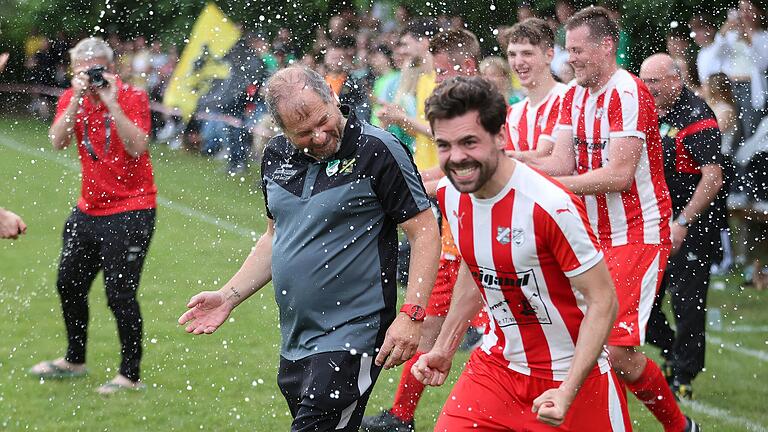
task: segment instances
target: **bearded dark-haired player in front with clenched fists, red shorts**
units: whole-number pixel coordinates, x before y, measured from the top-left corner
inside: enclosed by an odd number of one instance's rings
[[[480,78],[454,78],[427,100],[448,177],[438,201],[464,263],[440,335],[411,370],[441,385],[482,300],[490,332],[436,431],[631,430],[603,349],[616,295],[584,205],[505,156],[505,111]]]

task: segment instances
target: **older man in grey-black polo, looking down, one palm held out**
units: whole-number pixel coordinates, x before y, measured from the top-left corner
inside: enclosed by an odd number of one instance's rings
[[[291,431],[357,432],[382,366],[416,352],[440,253],[437,222],[407,148],[340,107],[319,74],[286,68],[266,89],[284,132],[262,159],[267,230],[229,282],[192,297],[179,323],[212,333],[271,280]],[[398,226],[412,245],[400,313]]]

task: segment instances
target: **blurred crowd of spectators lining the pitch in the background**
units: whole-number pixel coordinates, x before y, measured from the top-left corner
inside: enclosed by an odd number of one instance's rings
[[[609,1],[605,6],[621,22],[621,3]],[[573,71],[567,62],[563,24],[574,7],[560,0],[555,2],[554,11],[551,16],[540,18],[557,35],[552,73],[559,81],[568,83]],[[533,9],[523,6],[518,8],[516,18],[534,15]],[[728,203],[733,211],[742,212],[738,214],[768,212],[765,19],[765,11],[742,0],[737,8],[728,11],[724,22],[697,15],[688,23],[671,23],[666,47],[659,47],[659,51],[666,49],[676,60],[685,83],[702,95],[717,114],[724,137],[722,151],[732,162]],[[433,69],[433,65],[427,64],[429,56],[423,55],[423,50],[428,49],[424,41],[437,32],[465,26],[458,16],[414,17],[403,6],[390,10],[376,3],[368,12],[348,9],[332,16],[327,25],[318,25],[313,43],[304,50],[288,28],[271,34],[244,28],[242,39],[225,57],[233,71],[230,78],[212,83],[189,122],[182,123],[168,112],[156,112],[153,135],[173,147],[227,159],[226,171],[239,174],[260,157],[261,146],[276,130],[260,95],[261,85],[278,69],[302,64],[323,75],[342,103],[351,105],[360,118],[389,130],[414,149],[420,138],[429,134],[422,127],[423,120],[419,121],[423,108],[418,106],[424,100],[420,91],[429,88],[424,86],[424,80],[432,77]],[[511,104],[525,95],[504,58],[504,29],[494,31],[495,46],[485,47],[488,56],[480,65],[480,73]],[[165,86],[178,63],[176,46],[147,41],[141,36],[128,40],[110,35],[108,42],[115,49],[118,74],[145,89],[152,101],[162,101]],[[26,47],[29,81],[66,85],[67,48],[63,35],[49,40],[33,32]],[[627,66],[631,50],[629,36],[622,30],[617,52],[620,65]],[[40,115],[51,114],[44,97],[30,106]],[[742,236],[758,236],[754,231],[742,232]],[[744,237],[739,240],[735,243],[749,243]],[[749,251],[737,248],[726,261],[744,260],[748,255]],[[728,267],[729,263],[725,264]]]

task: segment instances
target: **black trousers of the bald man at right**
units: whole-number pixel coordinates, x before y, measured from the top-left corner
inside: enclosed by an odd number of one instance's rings
[[[661,348],[682,383],[690,383],[704,369],[707,291],[712,260],[720,247],[720,229],[710,225],[692,225],[680,251],[669,258],[646,331],[648,343]],[[665,292],[677,332],[661,310]]]

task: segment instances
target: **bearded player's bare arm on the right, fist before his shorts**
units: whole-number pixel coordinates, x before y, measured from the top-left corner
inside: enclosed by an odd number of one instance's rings
[[[555,426],[563,422],[584,380],[594,369],[619,307],[613,281],[604,261],[571,277],[570,281],[584,296],[587,304],[587,313],[579,327],[573,361],[560,386],[547,390],[533,401],[533,411],[538,413],[539,420]]]

